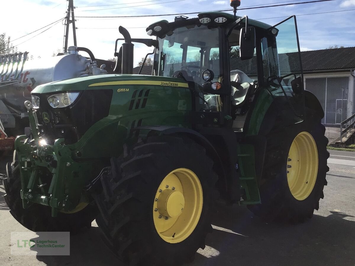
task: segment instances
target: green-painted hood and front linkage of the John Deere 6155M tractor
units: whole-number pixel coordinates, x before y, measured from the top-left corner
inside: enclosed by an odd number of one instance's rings
[[[21,198],[25,208],[32,203],[48,205],[52,207],[52,215],[56,216],[59,210],[70,211],[83,199],[87,199],[88,197],[82,194],[84,185],[96,177],[93,173],[98,174],[97,169],[101,170],[108,165],[108,158],[121,155],[124,143],[130,141],[130,129],[136,127],[139,120],[142,121],[142,126],[191,127],[191,121],[188,119],[192,110],[189,88],[144,84],[100,85],[102,82],[111,81],[148,80],[157,81],[158,84],[170,82],[186,85],[184,80],[176,78],[104,75],[53,82],[33,90],[33,94],[51,95],[58,92],[108,89],[113,90],[113,96],[109,115],[95,123],[78,142],[71,145],[64,145],[64,139],[56,140],[53,146],[41,145],[40,142],[44,139],[39,137],[36,111],[29,110],[34,141],[29,142],[26,136],[17,137],[15,141],[23,185]],[[99,85],[89,87],[97,83]],[[147,90],[149,101],[142,109],[142,101],[147,98],[145,96]],[[142,96],[139,97],[141,91]],[[133,94],[136,96],[133,97]],[[129,110],[132,101],[133,108]],[[78,157],[78,154],[81,156]],[[56,167],[44,160],[48,155],[57,161]],[[44,168],[53,174],[53,178],[50,184],[39,188],[42,182],[40,172],[42,173]],[[52,196],[45,196],[48,194]]]

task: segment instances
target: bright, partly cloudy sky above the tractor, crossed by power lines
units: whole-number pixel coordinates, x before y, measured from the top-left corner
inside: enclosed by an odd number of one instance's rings
[[[287,1],[287,2],[286,2]],[[241,0],[241,6],[267,5],[284,2],[293,4],[305,0]],[[136,3],[140,2],[140,3]],[[13,40],[18,51],[29,51],[34,57],[50,57],[53,52],[63,48],[64,25],[62,21],[53,27],[43,26],[65,17],[66,0],[16,0],[2,1],[0,32],[6,33]],[[102,6],[105,5],[105,6]],[[229,0],[74,0],[77,45],[90,49],[99,59],[114,57],[115,40],[122,38],[119,26],[126,27],[132,38],[149,38],[146,27],[159,20],[174,21],[175,16],[145,17],[145,18],[80,18],[80,16],[133,16],[157,15],[184,12],[202,12],[210,10],[230,9]],[[352,10],[353,9],[353,10]],[[310,13],[332,12],[318,15]],[[232,13],[232,12],[231,12]],[[355,0],[334,0],[312,4],[268,7],[263,9],[239,10],[237,15],[247,15],[251,19],[261,20],[274,25],[291,15],[297,16],[297,26],[301,50],[325,49],[331,45],[355,46]],[[187,15],[196,17],[196,15]],[[275,18],[277,17],[277,18]],[[48,29],[49,28],[49,29]],[[45,32],[37,35],[38,33]],[[30,39],[31,38],[31,39]],[[17,40],[16,40],[17,39]],[[73,45],[72,30],[69,34],[69,46]],[[134,66],[152,48],[135,44]],[[83,55],[85,55],[83,53]]]

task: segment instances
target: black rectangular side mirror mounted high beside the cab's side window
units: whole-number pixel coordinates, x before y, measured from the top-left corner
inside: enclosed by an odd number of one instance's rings
[[[240,60],[252,59],[255,50],[255,28],[247,27],[240,30]]]

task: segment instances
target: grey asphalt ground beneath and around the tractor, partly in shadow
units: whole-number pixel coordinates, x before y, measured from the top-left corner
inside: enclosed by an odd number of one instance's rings
[[[246,207],[219,207],[206,249],[191,265],[355,265],[355,153],[330,153],[325,198],[311,220],[268,224]],[[2,195],[0,185],[0,265],[123,265],[101,241],[95,222],[71,237],[70,256],[11,256],[10,232],[27,229],[12,218]]]

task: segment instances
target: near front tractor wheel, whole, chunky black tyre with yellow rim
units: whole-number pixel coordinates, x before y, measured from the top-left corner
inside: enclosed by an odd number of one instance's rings
[[[150,137],[111,160],[98,196],[104,240],[130,264],[193,260],[211,227],[217,175],[202,146],[178,137]]]

